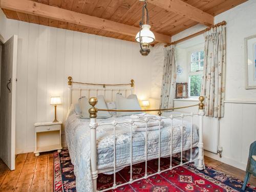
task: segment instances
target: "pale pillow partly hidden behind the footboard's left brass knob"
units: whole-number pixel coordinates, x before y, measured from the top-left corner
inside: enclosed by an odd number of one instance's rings
[[[106,103],[104,100],[104,96],[103,95],[99,95],[97,96],[98,102],[95,105],[95,108],[98,109],[108,109],[106,107]],[[89,113],[89,109],[92,107],[92,105],[89,104],[89,99],[87,97],[81,97],[79,99],[79,106],[80,106],[80,117],[84,118],[84,119],[90,119],[90,113]],[[111,115],[108,111],[98,111],[97,113],[97,118],[98,119],[106,119],[106,118],[110,118]]]

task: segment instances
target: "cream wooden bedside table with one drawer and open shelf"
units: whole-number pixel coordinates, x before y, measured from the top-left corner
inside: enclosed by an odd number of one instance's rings
[[[35,123],[35,156],[41,152],[58,150],[61,152],[61,124],[62,122]]]

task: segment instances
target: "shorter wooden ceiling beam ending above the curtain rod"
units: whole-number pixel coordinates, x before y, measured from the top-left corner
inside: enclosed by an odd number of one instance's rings
[[[206,25],[214,25],[214,16],[206,13],[194,6],[191,6],[181,0],[148,0],[148,3],[161,7],[165,10],[172,11],[191,20]]]

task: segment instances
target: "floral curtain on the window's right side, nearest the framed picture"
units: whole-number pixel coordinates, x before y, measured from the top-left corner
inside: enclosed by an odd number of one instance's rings
[[[201,95],[205,97],[205,115],[224,116],[226,37],[225,26],[204,33],[204,70]]]

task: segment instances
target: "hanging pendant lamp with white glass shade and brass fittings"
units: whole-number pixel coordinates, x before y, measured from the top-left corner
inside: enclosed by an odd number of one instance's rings
[[[144,2],[142,8],[142,19],[140,21],[141,30],[137,33],[135,40],[140,44],[140,53],[142,56],[147,56],[150,53],[150,43],[155,41],[155,35],[150,30],[151,26],[148,25],[149,17],[147,11],[146,0],[139,0]]]

